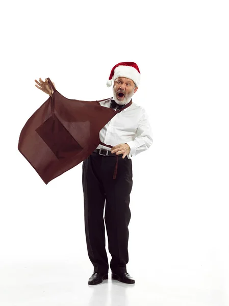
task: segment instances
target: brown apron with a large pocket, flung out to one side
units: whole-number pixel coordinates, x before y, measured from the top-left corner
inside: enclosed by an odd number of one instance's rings
[[[21,130],[18,150],[33,166],[45,184],[77,166],[99,145],[99,131],[132,100],[116,111],[99,101],[65,98],[47,78],[54,93],[29,118]],[[105,101],[108,99],[100,100]],[[108,157],[109,158],[109,157]],[[116,178],[118,166],[114,169]]]

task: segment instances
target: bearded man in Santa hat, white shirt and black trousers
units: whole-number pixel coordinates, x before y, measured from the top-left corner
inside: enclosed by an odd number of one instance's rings
[[[130,193],[132,190],[131,158],[149,148],[152,132],[145,110],[130,103],[138,90],[140,71],[136,63],[123,62],[115,65],[107,86],[113,85],[113,98],[100,101],[104,107],[112,107],[117,113],[99,132],[100,141],[113,146],[99,144],[92,154],[83,161],[82,183],[84,192],[85,233],[87,250],[94,272],[89,285],[96,285],[108,278],[108,257],[105,248],[105,223],[108,248],[112,256],[110,268],[112,279],[134,284],[134,278],[126,271],[129,262],[128,225],[131,219]],[[35,80],[35,82],[37,82]],[[41,79],[37,88],[50,93]],[[130,106],[124,107],[130,103]],[[122,110],[123,108],[123,110]],[[113,171],[118,156],[118,171]],[[114,158],[115,157],[115,158]]]

